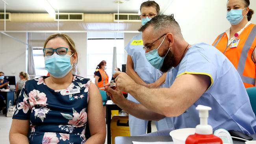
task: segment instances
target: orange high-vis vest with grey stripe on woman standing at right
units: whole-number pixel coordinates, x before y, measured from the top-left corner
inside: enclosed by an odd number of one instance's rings
[[[236,48],[230,48],[228,45],[228,36],[224,32],[220,34],[213,42],[237,69],[245,88],[254,87],[256,77],[256,65],[252,61],[252,53],[256,47],[256,25],[250,24],[237,37],[240,39]]]

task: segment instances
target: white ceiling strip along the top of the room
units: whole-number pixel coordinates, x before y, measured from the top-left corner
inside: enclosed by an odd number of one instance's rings
[[[117,13],[115,0],[48,0],[60,13]],[[142,2],[147,0],[122,0],[119,13],[138,13]],[[173,0],[155,0],[160,6],[160,13],[171,5]],[[47,13],[41,2],[45,0],[6,0],[6,12],[11,13]],[[4,2],[0,0],[0,12],[4,12]]]

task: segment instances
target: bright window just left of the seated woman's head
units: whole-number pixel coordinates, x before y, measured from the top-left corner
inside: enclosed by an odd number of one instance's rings
[[[48,71],[45,70],[43,47],[33,47],[33,59],[35,65],[35,78],[46,76]]]

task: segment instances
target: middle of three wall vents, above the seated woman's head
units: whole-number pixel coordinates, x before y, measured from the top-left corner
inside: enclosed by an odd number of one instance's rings
[[[58,21],[58,13],[54,20]],[[59,13],[59,21],[83,21],[83,13]]]

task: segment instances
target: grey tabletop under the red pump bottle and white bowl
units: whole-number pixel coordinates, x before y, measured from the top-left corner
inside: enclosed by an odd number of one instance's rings
[[[250,135],[253,140],[256,140],[256,135]],[[132,144],[132,141],[136,142],[172,142],[171,136],[137,136],[137,137],[115,137],[115,144]],[[245,144],[245,142],[240,142],[233,140],[234,144]]]

